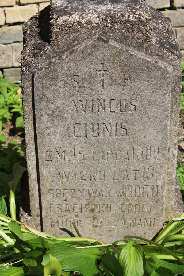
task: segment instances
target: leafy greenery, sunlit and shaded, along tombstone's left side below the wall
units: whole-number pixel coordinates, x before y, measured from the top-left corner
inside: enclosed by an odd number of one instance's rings
[[[15,124],[15,127],[24,127],[23,124],[23,111],[22,111],[22,95],[21,88],[18,84],[13,84],[0,75],[0,133],[3,128],[3,124],[7,124],[11,121]],[[13,179],[13,166],[19,163],[21,166],[26,167],[25,161],[25,146],[21,144],[18,146],[17,141],[10,141],[5,143],[6,136],[0,134],[0,196],[7,196],[5,200],[8,200],[9,194],[11,194],[11,200],[14,201],[12,190],[9,190],[8,182]],[[20,201],[20,178],[17,182],[17,202]],[[15,201],[14,201],[15,204]],[[11,214],[16,219],[15,207]]]

